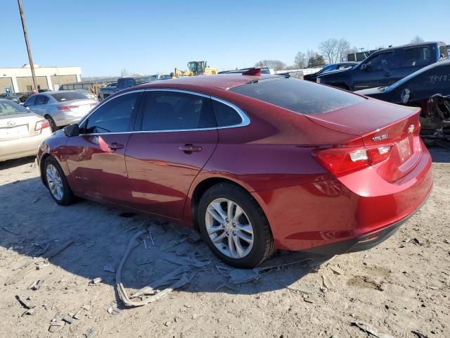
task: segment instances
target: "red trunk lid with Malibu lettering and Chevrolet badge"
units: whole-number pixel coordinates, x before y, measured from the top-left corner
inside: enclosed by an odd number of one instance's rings
[[[413,170],[422,153],[419,115],[420,108],[367,100],[307,118],[330,130],[360,136],[368,149],[386,151],[389,147],[389,157],[373,168],[385,180],[394,182]]]

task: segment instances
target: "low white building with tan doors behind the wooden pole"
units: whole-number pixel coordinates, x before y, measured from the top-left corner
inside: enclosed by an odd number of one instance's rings
[[[81,67],[39,67],[34,65],[37,89],[58,90],[61,84],[80,82]],[[0,68],[0,93],[32,92],[30,65],[21,68]]]

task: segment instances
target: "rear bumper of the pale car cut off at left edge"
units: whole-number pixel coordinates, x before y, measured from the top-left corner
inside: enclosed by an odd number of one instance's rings
[[[19,139],[0,141],[0,161],[12,160],[25,156],[36,156],[39,144],[51,135],[50,128],[45,128],[40,134]]]

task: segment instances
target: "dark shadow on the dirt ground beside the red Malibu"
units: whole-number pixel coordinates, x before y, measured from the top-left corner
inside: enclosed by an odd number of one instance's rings
[[[59,206],[39,177],[4,184],[0,196],[0,219],[4,220],[0,245],[8,250],[4,256],[22,255],[39,266],[45,266],[44,258],[51,256],[52,264],[86,278],[86,284],[101,277],[102,283],[115,285],[113,272],[131,237],[148,228],[151,236],[147,232],[139,238],[122,269],[122,283],[129,289],[128,294],[145,286],[164,288],[159,282],[161,277],[177,269],[192,277],[185,292],[257,294],[291,284],[317,289],[321,285],[302,285],[302,278],[331,258],[281,252],[258,269],[235,269],[219,261],[205,242],[186,227],[85,200]],[[58,252],[66,244],[68,247]],[[23,269],[23,262],[11,266],[0,276],[0,283],[11,287],[31,284],[36,279],[34,268],[15,281]]]

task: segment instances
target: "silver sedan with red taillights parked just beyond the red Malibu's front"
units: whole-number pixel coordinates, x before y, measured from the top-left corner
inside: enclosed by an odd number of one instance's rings
[[[76,90],[45,92],[30,96],[23,106],[30,107],[49,120],[51,130],[77,123],[98,102],[88,99],[86,95]]]

